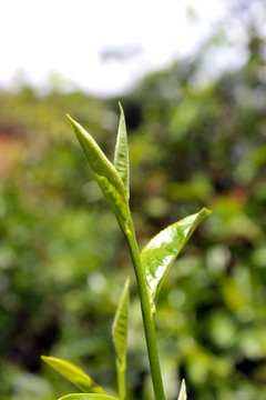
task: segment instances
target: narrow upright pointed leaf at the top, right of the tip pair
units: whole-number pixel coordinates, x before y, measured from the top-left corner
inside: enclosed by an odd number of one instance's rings
[[[126,136],[126,126],[124,111],[120,106],[120,124],[119,133],[116,139],[116,146],[114,151],[114,167],[116,168],[124,184],[126,198],[130,198],[130,162],[129,162],[129,147],[127,147],[127,136]]]

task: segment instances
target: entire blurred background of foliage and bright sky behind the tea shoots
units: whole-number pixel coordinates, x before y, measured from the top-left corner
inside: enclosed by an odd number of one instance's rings
[[[113,1],[95,16],[92,2],[91,13],[79,9],[86,1],[30,3],[0,4],[9,27],[0,67],[0,398],[78,391],[41,354],[78,363],[115,394],[111,326],[131,274],[129,399],[153,399],[129,251],[64,118],[112,159],[121,101],[140,247],[203,206],[213,210],[160,294],[167,399],[184,377],[190,400],[265,399],[265,2]],[[94,49],[96,38],[105,39]]]

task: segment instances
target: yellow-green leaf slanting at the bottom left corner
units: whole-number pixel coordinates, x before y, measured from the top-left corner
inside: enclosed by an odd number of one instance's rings
[[[85,372],[69,361],[42,356],[41,359],[84,392],[105,393]]]

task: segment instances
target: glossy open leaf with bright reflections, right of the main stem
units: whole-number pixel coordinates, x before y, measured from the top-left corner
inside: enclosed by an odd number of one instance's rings
[[[175,222],[155,236],[143,249],[141,261],[153,308],[170,267],[198,223],[209,212],[207,209],[202,209],[198,213]]]

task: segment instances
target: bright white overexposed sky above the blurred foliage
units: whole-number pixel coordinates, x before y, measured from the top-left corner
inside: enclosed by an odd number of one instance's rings
[[[224,14],[222,0],[0,0],[0,86],[23,74],[42,87],[59,72],[85,91],[115,94],[193,51]],[[124,46],[142,51],[102,60],[103,49]]]

